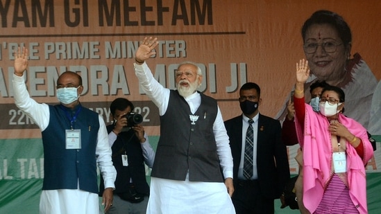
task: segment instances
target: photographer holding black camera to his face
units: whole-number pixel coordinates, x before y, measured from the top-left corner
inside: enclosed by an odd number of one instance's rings
[[[114,123],[107,126],[112,162],[117,170],[114,201],[107,213],[146,213],[149,185],[144,163],[152,168],[155,152],[139,123],[142,116],[133,113],[133,103],[125,98],[111,102]],[[103,182],[99,186],[103,193]]]

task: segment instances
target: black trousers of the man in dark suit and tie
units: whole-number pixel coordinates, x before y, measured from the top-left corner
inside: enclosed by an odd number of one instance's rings
[[[232,203],[237,214],[271,214],[274,213],[274,199],[269,199],[260,193],[257,180],[237,180],[234,183]]]

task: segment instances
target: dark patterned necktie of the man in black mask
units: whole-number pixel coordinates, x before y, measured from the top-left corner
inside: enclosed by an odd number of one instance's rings
[[[244,177],[246,179],[251,179],[253,176],[253,123],[253,120],[248,120],[244,157]]]

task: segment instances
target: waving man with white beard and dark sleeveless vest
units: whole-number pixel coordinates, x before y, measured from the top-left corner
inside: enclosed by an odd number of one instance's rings
[[[177,90],[162,87],[145,62],[157,45],[157,38],[144,38],[134,64],[160,114],[146,213],[235,213],[232,154],[217,100],[197,91],[203,77],[194,62],[178,66]]]

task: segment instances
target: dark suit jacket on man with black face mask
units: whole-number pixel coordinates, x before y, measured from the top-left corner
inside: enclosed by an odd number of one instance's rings
[[[242,115],[225,121],[233,157],[233,181],[237,180],[242,152]],[[287,149],[281,140],[280,122],[260,114],[257,130],[257,172],[260,194],[277,199],[289,179]],[[255,134],[255,133],[254,133]]]

